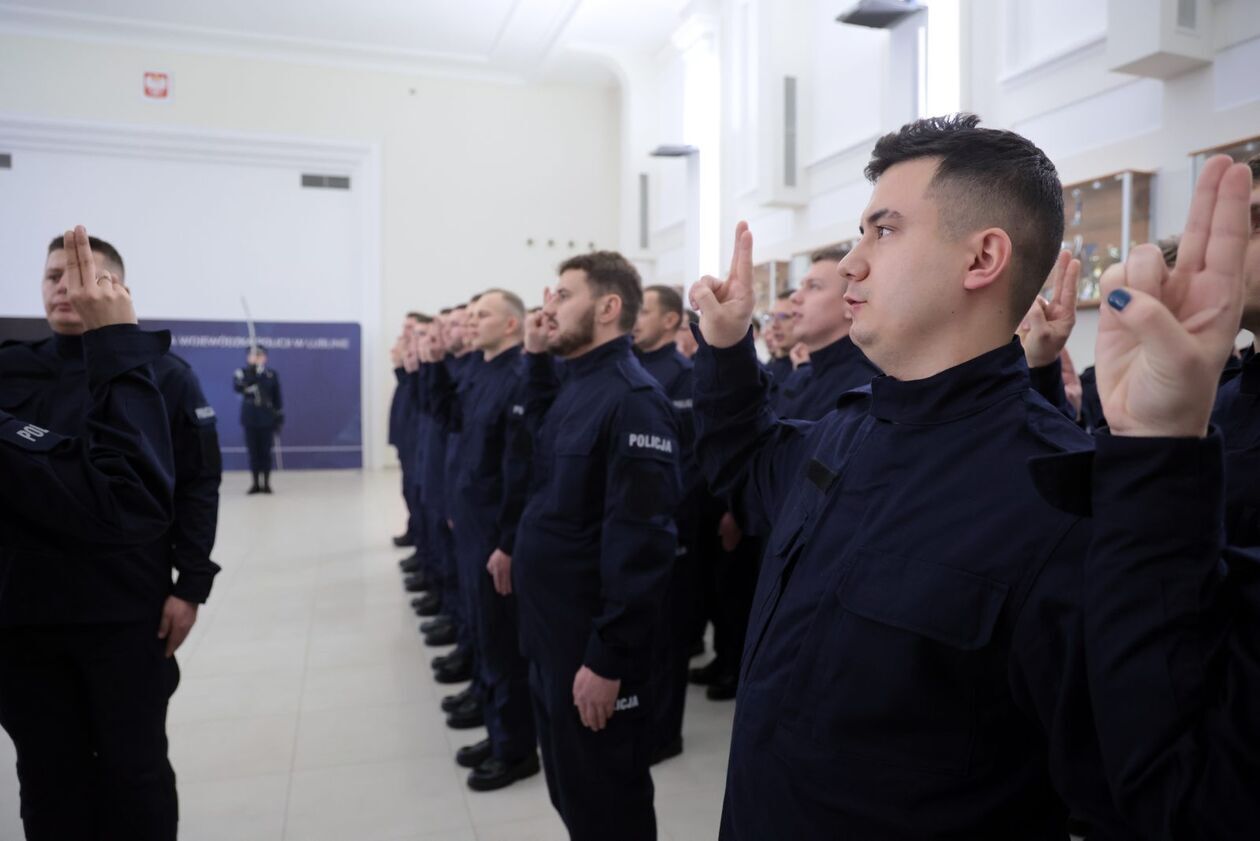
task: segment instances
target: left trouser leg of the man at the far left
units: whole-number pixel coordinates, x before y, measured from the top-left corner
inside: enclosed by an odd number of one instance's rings
[[[0,630],[0,725],[18,750],[26,838],[96,838],[87,696],[60,629]]]

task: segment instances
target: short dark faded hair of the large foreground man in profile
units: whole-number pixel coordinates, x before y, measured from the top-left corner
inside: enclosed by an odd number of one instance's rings
[[[1012,242],[1012,295],[1017,318],[1046,285],[1063,242],[1063,185],[1055,164],[1027,137],[978,127],[974,113],[930,117],[879,137],[866,177],[939,158],[929,193],[939,199],[950,236],[998,227]]]

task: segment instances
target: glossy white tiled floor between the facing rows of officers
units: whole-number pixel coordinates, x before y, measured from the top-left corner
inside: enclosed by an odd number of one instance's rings
[[[449,730],[388,538],[397,473],[277,474],[272,497],[223,484],[223,566],[179,653],[170,710],[184,841],[551,841],[542,775],[489,794]],[[459,687],[455,687],[459,688]],[[663,841],[717,835],[730,704],[692,688],[687,751],[654,769]],[[13,746],[0,735],[0,841],[21,838]]]

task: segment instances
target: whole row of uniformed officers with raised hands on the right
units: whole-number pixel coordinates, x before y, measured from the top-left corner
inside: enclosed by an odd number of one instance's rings
[[[1246,837],[1254,351],[1213,385],[1260,311],[1242,169],[1205,170],[1172,271],[1137,250],[1105,279],[1095,435],[1058,361],[1080,267],[1046,246],[1057,175],[973,117],[881,140],[859,245],[790,300],[808,364],[757,362],[743,226],[731,276],[693,290],[694,364],[651,324],[677,294],[610,252],[563,264],[537,313],[475,299],[470,352],[418,319],[392,431],[421,502],[411,589],[460,643],[435,675],[472,680],[444,706],[489,734],[457,755],[469,784],[536,773],[538,745],[573,838],[655,837],[708,497],[760,566],[723,838]],[[942,195],[994,227],[951,232]]]

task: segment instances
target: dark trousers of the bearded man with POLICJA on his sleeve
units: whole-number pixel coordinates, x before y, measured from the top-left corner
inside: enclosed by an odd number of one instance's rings
[[[538,725],[547,789],[571,841],[654,841],[646,705],[614,714],[604,730],[592,733],[573,706],[572,673],[536,667],[530,680],[543,707]]]

